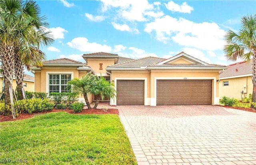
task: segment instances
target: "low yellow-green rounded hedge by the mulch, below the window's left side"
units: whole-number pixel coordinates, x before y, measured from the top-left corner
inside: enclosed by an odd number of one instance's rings
[[[52,110],[54,104],[50,103],[49,99],[30,98],[18,100],[16,105],[19,106],[21,112],[42,112]]]

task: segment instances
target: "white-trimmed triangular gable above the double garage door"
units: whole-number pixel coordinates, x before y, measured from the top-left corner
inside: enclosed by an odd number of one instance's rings
[[[169,58],[169,59],[166,59],[158,64],[176,64],[175,61],[179,60],[179,59],[183,59],[184,61],[187,61],[188,63],[191,63],[191,64],[197,64],[197,65],[209,65],[208,63],[204,62],[204,61],[201,61],[200,59],[197,59],[195,57],[192,57],[186,53],[184,53],[183,51],[178,53],[177,55]],[[184,63],[186,65],[188,65],[188,63]]]

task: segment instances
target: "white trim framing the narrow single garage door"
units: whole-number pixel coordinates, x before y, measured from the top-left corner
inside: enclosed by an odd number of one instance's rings
[[[144,105],[150,105],[150,98],[147,98],[147,78],[144,77],[144,78],[138,78],[138,77],[118,77],[118,78],[115,78],[114,81],[115,81],[115,90],[116,90],[116,85],[117,85],[117,81],[118,80],[144,80]],[[116,101],[117,99],[113,99],[111,98],[111,103],[112,105],[116,105]]]

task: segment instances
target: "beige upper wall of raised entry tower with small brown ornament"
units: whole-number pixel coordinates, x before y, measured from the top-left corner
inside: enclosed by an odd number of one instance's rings
[[[102,70],[100,70],[100,63],[102,63]],[[90,66],[95,73],[106,73],[106,67],[108,67],[108,65],[114,65],[114,59],[89,58],[87,65]]]

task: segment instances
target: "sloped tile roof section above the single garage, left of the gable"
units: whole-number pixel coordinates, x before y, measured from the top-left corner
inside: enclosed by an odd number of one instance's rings
[[[152,63],[159,63],[165,59],[159,57],[144,57],[141,59],[135,59],[131,61],[126,61],[123,63],[117,63],[115,65],[109,65],[108,67],[124,67],[124,68],[140,68],[140,67],[147,67]]]

